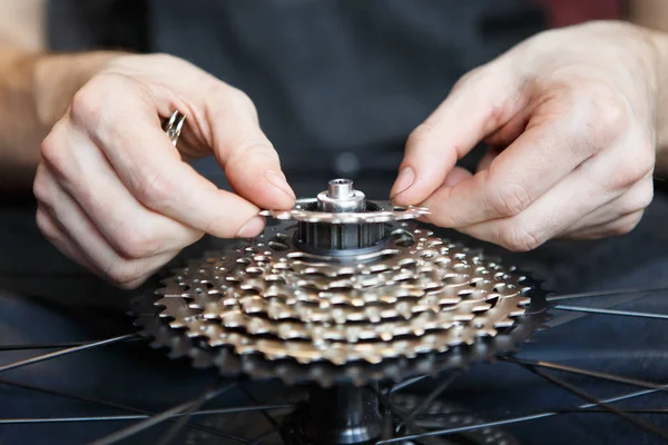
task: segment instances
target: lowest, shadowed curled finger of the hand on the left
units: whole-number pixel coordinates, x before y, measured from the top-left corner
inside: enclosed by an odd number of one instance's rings
[[[94,273],[117,286],[132,288],[140,284],[140,278],[150,276],[177,255],[178,251],[170,251],[140,259],[121,257],[90,222],[72,197],[52,178],[46,176],[46,179],[42,179],[45,186],[40,187],[41,191],[38,194],[40,206],[51,214],[71,241],[70,251],[78,253],[91,266]]]

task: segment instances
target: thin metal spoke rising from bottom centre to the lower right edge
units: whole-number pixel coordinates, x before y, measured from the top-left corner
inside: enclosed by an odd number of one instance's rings
[[[668,389],[668,384],[661,385],[660,387],[654,388],[654,389],[642,389],[642,390],[636,390],[632,393],[626,393],[626,394],[622,394],[619,396],[601,399],[599,402],[605,403],[605,404],[613,404],[617,402],[623,402],[623,400],[629,400],[629,399],[637,398],[637,397],[647,396],[650,394],[658,393],[659,390],[666,390],[666,389]],[[552,409],[552,411],[543,411],[543,412],[539,412],[539,413],[530,413],[530,414],[525,414],[522,416],[502,418],[499,421],[485,422],[485,423],[477,424],[477,425],[459,426],[455,428],[438,429],[438,431],[426,432],[426,433],[422,433],[422,434],[413,434],[413,435],[393,437],[393,438],[389,438],[385,441],[380,441],[376,443],[376,445],[394,444],[394,443],[404,442],[404,441],[415,441],[415,439],[432,437],[432,436],[443,436],[443,435],[448,435],[448,434],[465,433],[465,432],[475,431],[475,429],[480,429],[480,428],[493,428],[497,426],[504,426],[504,425],[512,425],[512,424],[518,424],[518,423],[522,423],[522,422],[538,421],[541,418],[553,417],[553,416],[564,414],[564,413],[580,413],[580,412],[589,411],[589,408],[593,408],[596,406],[597,406],[597,404],[587,403],[587,404],[582,404],[582,405],[579,405],[573,408],[567,408],[567,411]]]

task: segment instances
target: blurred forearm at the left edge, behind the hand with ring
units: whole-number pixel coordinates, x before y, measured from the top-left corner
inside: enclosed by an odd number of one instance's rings
[[[40,142],[75,92],[116,56],[0,48],[0,194],[30,190]]]

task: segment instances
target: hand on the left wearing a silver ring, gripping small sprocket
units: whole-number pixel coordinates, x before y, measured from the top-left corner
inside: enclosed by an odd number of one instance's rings
[[[187,116],[178,148],[160,118]],[[215,155],[238,195],[186,160]],[[41,148],[37,221],[65,254],[132,288],[208,233],[252,237],[294,192],[246,95],[174,57],[124,56],[81,88]]]

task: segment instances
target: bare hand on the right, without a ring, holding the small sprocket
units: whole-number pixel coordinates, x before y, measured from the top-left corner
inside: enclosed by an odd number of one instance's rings
[[[464,76],[409,138],[393,199],[512,250],[630,231],[652,199],[655,37],[617,22],[548,31]],[[480,141],[478,172],[455,167]]]

